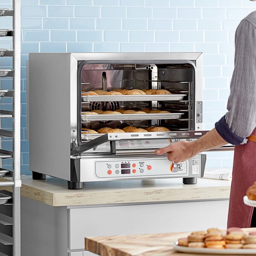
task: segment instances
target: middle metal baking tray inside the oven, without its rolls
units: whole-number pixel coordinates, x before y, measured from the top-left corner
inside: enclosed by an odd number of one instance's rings
[[[179,119],[184,113],[145,113],[145,114],[111,114],[111,115],[81,115],[85,121],[109,121],[109,120],[151,120],[151,119]]]

